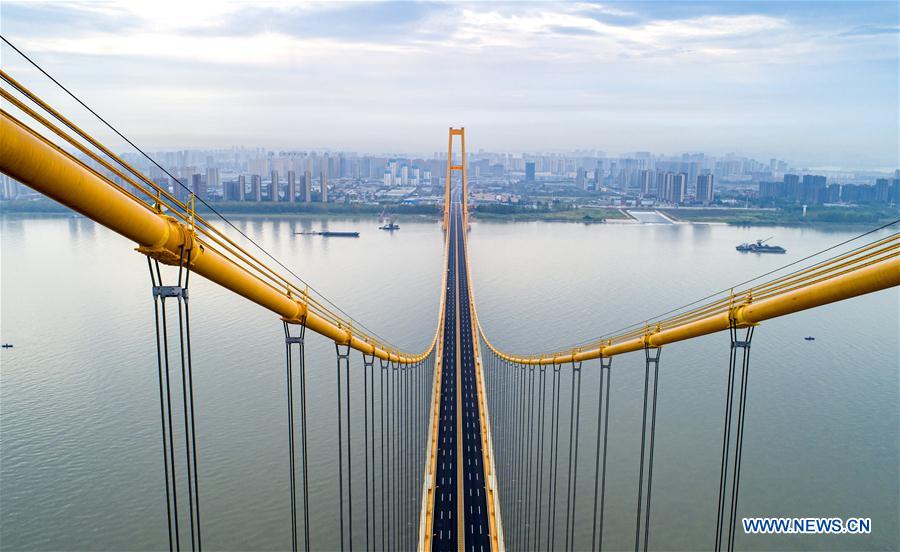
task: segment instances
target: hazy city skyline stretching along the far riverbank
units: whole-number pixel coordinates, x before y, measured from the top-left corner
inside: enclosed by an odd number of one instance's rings
[[[446,152],[414,157],[235,147],[151,156],[165,170],[136,154],[123,158],[181,200],[193,193],[204,200],[234,202],[439,202],[447,169]],[[782,160],[763,163],[734,154],[607,157],[596,150],[478,151],[469,153],[466,166],[470,190],[491,190],[492,197],[577,192],[641,205],[710,205],[733,202],[735,196],[752,200],[758,194],[764,204],[900,204],[900,171],[894,178],[852,172],[801,176]],[[0,183],[3,199],[30,197],[6,177]]]

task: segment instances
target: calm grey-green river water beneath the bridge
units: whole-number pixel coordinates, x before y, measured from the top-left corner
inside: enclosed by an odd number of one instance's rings
[[[388,233],[373,220],[235,221],[372,330],[406,349],[430,341],[440,225],[406,222]],[[325,226],[361,237],[294,235]],[[0,353],[0,547],[166,548],[145,259],[83,218],[5,216],[0,230],[0,338],[15,345]],[[524,353],[644,320],[855,233],[474,222],[470,266],[485,330],[498,346]],[[770,235],[787,255],[734,250]],[[739,515],[870,517],[872,533],[739,532],[736,548],[898,548],[898,306],[898,291],[884,291],[767,322],[753,341]],[[204,547],[287,549],[281,322],[200,278],[191,282],[191,316]],[[315,549],[335,549],[334,349],[317,336],[308,341],[311,538]],[[652,549],[712,546],[727,359],[726,335],[663,351]],[[591,539],[596,368],[588,363],[582,381],[576,549]],[[634,546],[643,357],[616,358],[612,374],[603,543],[618,550]],[[361,387],[361,378],[354,382]],[[360,397],[355,388],[354,400]],[[354,477],[354,544],[361,547],[363,481]]]

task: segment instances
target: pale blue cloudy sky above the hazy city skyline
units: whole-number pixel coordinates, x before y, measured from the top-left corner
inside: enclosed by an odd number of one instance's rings
[[[470,151],[900,166],[898,2],[0,10],[7,39],[149,149],[431,154],[447,127],[465,126]],[[5,45],[0,62],[65,104]]]

